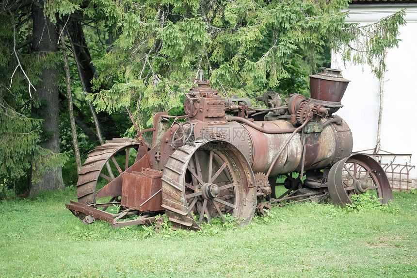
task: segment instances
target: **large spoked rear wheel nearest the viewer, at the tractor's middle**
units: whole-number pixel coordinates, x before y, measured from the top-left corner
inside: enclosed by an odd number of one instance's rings
[[[213,217],[226,221],[227,214],[250,223],[256,208],[250,165],[226,141],[179,147],[163,171],[162,207],[174,229],[198,230]]]

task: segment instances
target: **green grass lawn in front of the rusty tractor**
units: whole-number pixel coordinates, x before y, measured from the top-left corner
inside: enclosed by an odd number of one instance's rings
[[[0,277],[417,277],[417,195],[389,210],[274,207],[200,232],[84,226],[70,188],[0,203]]]

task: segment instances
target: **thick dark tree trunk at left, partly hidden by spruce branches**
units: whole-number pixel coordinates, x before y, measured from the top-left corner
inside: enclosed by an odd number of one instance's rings
[[[33,18],[33,43],[32,51],[37,52],[34,55],[46,56],[58,51],[58,33],[57,26],[53,24],[48,17],[44,16],[44,1],[34,1],[32,5]],[[42,129],[45,134],[45,140],[41,146],[59,153],[59,71],[53,65],[44,65],[41,69],[37,87],[37,98],[40,101],[40,107],[37,114],[42,118]],[[46,173],[43,180],[39,183],[31,181],[30,195],[45,190],[56,190],[65,188],[62,179],[61,167]]]

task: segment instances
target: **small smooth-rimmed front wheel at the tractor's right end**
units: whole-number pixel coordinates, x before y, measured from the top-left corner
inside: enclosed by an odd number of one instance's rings
[[[354,154],[334,164],[329,171],[328,189],[333,203],[339,206],[352,204],[353,194],[367,191],[375,198],[381,198],[382,204],[393,199],[381,165],[363,154]]]

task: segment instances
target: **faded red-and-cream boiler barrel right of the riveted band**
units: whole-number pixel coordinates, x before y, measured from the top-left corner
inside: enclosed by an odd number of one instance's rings
[[[322,120],[323,122],[326,119]],[[288,121],[275,120],[268,122],[255,122],[264,128],[272,128],[277,131],[290,129],[292,125]],[[244,125],[251,138],[253,155],[249,162],[253,171],[268,172],[273,160],[284,146],[291,133],[267,134]],[[304,142],[303,142],[304,141]],[[352,132],[345,121],[340,125],[331,123],[321,132],[302,133],[297,132],[284,147],[275,164],[271,176],[300,171],[302,168],[303,152],[305,148],[304,169],[322,169],[332,165],[340,159],[351,155],[353,147]]]

